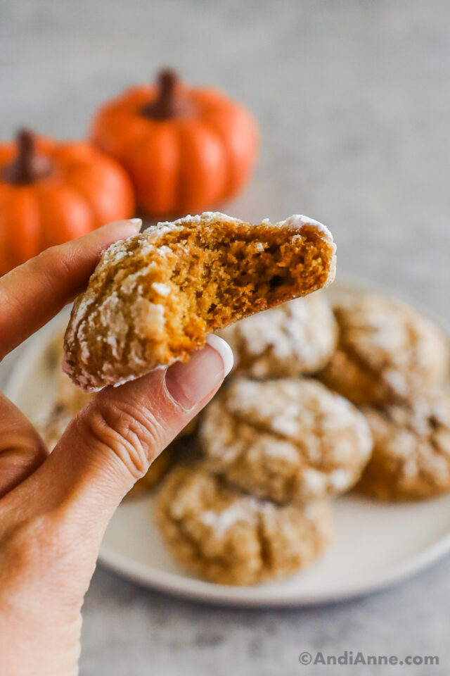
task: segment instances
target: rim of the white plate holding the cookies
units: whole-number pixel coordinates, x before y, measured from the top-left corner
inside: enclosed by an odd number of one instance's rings
[[[333,286],[335,289],[342,288],[342,291],[347,289],[349,292],[352,292],[352,290],[357,289],[366,292],[380,292],[397,297],[401,301],[409,303],[420,313],[423,313],[437,323],[446,332],[447,336],[450,337],[450,323],[448,320],[430,310],[430,308],[424,308],[421,303],[409,299],[404,294],[397,294],[397,292],[392,294],[390,289],[387,289],[383,284],[364,280],[356,275],[339,275],[338,280]],[[21,383],[23,383],[25,374],[30,368],[32,354],[41,354],[44,351],[53,332],[53,326],[56,323],[60,323],[61,318],[65,315],[68,315],[68,308],[64,308],[63,311],[58,313],[55,318],[42,327],[23,346],[20,356],[18,354],[18,358],[13,363],[3,389],[4,394],[9,399],[13,401],[18,399]],[[430,546],[406,559],[406,561],[392,565],[389,570],[381,573],[378,577],[373,578],[373,580],[349,584],[347,587],[344,585],[335,592],[326,590],[323,594],[317,591],[307,594],[302,591],[300,594],[297,593],[297,595],[295,595],[295,590],[290,592],[288,586],[286,589],[277,590],[275,595],[274,592],[270,591],[270,583],[252,587],[238,587],[199,580],[194,577],[188,577],[188,575],[184,575],[182,572],[176,573],[152,568],[150,565],[136,561],[123,553],[111,549],[105,544],[101,545],[98,563],[108,570],[149,589],[199,603],[239,608],[301,608],[349,601],[380,592],[383,589],[392,587],[394,584],[408,580],[413,575],[418,574],[418,572],[429,568],[432,564],[442,559],[449,551],[450,530]]]

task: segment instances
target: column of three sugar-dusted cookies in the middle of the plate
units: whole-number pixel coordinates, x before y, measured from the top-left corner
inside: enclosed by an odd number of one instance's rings
[[[255,584],[314,561],[330,539],[330,499],[371,455],[366,418],[309,377],[338,325],[325,296],[227,327],[235,369],[200,420],[203,459],[172,470],[156,516],[177,561],[212,582]]]

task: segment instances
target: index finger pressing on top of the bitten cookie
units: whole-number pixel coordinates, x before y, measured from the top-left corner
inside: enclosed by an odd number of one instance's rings
[[[139,218],[108,223],[51,246],[0,278],[0,359],[56,315],[84,287],[98,258],[117,239],[136,234]]]

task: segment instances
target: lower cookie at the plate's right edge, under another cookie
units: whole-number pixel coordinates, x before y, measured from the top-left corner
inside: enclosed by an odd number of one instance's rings
[[[450,490],[450,396],[365,408],[373,456],[358,487],[381,500],[432,498]]]

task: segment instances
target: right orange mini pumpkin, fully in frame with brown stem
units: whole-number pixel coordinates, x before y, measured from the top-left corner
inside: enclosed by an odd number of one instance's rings
[[[236,101],[163,70],[156,86],[105,104],[91,139],[127,169],[138,206],[162,215],[203,211],[236,194],[255,164],[259,132]]]

